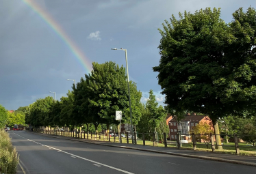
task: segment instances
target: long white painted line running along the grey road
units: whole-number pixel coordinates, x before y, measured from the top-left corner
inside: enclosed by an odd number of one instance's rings
[[[16,134],[16,133],[14,133],[14,134]],[[19,135],[19,134],[16,134],[16,135],[21,136],[21,135]],[[23,139],[26,139],[26,138],[23,137],[23,136],[21,136],[21,137],[22,137]],[[29,139],[26,139],[26,140],[31,141],[31,142],[34,142],[34,143],[38,143],[38,142],[33,141],[33,140],[29,140]],[[38,143],[38,144],[43,145],[42,143]],[[51,146],[49,146],[49,145],[44,145],[44,146],[45,146],[45,147],[51,147]],[[106,166],[106,167],[108,167],[108,168],[110,168],[110,169],[114,169],[114,170],[116,170],[116,171],[120,171],[120,172],[127,173],[127,174],[134,174],[134,173],[131,173],[131,172],[129,172],[129,171],[124,171],[124,170],[122,170],[122,169],[118,169],[118,168],[116,168],[116,167],[114,167],[114,166],[109,166],[109,165],[103,164],[103,163],[101,163],[101,162],[97,162],[97,161],[94,161],[94,160],[89,160],[89,159],[83,158],[83,157],[81,157],[81,156],[76,156],[76,155],[74,155],[74,154],[68,153],[68,152],[63,151],[63,150],[60,150],[60,149],[56,149],[56,148],[54,148],[54,147],[51,147],[51,148],[52,148],[52,149],[55,149],[55,150],[57,150],[57,151],[61,151],[61,152],[65,153],[65,154],[68,154],[68,155],[71,155],[71,156],[75,156],[75,157],[80,158],[80,159],[82,159],[82,160],[90,161],[90,162],[92,162],[92,163],[99,164],[99,165],[101,165],[101,166]]]

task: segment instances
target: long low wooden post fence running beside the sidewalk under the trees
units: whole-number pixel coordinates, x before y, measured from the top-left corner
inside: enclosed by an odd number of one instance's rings
[[[43,134],[52,134],[58,136],[74,137],[77,139],[91,139],[97,141],[109,141],[114,143],[134,143],[136,145],[151,145],[157,147],[176,147],[189,149],[205,149],[207,151],[216,151],[224,149],[240,154],[240,151],[251,151],[256,155],[255,143],[244,143],[243,139],[256,139],[255,135],[229,135],[229,134],[176,134],[177,139],[171,139],[170,134],[159,133],[138,133],[134,132],[132,142],[131,134],[128,132],[102,133],[102,132],[75,132],[75,131],[59,131],[59,130],[42,130],[34,129],[35,132]],[[216,139],[220,137],[220,144],[217,145]],[[227,142],[229,140],[229,142]]]

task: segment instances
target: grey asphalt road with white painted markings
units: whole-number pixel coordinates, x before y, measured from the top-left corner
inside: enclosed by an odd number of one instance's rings
[[[255,166],[214,162],[10,131],[25,173],[256,173]]]

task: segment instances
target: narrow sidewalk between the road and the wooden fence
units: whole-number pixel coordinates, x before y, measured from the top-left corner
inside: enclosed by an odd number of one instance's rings
[[[177,149],[177,148],[170,148],[170,147],[152,147],[147,145],[133,145],[127,143],[112,143],[108,141],[97,141],[97,140],[90,140],[90,139],[75,139],[73,137],[66,137],[66,136],[57,136],[57,135],[50,135],[50,134],[42,134],[33,132],[35,134],[40,134],[43,136],[51,136],[57,139],[66,139],[71,141],[79,141],[84,143],[92,143],[97,145],[105,145],[110,147],[119,147],[125,149],[134,149],[140,151],[150,151],[154,153],[160,154],[169,154],[175,156],[184,156],[188,158],[200,158],[205,160],[215,160],[219,162],[229,162],[235,164],[244,164],[250,166],[256,166],[256,157],[255,156],[239,156],[234,154],[221,154],[218,152],[207,152],[207,151],[193,151],[188,149]]]

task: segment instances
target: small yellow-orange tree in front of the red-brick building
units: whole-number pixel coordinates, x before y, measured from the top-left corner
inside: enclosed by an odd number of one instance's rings
[[[192,128],[192,133],[195,134],[196,139],[203,140],[208,149],[209,143],[211,142],[211,136],[209,136],[209,134],[214,133],[211,126],[207,123],[199,123],[197,126]]]

